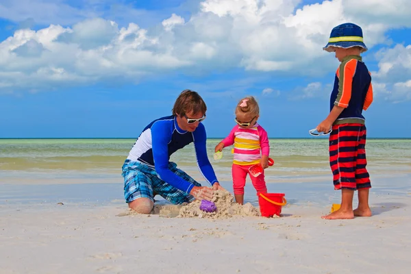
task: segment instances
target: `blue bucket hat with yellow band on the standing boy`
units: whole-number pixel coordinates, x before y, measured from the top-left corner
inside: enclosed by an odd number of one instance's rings
[[[328,44],[323,50],[332,52],[332,47],[362,47],[362,52],[368,50],[363,42],[361,27],[353,23],[344,23],[332,29]]]

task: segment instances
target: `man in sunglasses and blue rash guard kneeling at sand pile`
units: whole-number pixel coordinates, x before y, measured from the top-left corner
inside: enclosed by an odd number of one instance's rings
[[[174,204],[195,199],[210,201],[214,190],[223,189],[207,156],[207,106],[200,95],[184,90],[174,103],[173,115],[149,123],[137,138],[123,164],[124,197],[129,208],[149,214],[154,196],[161,195]],[[194,142],[197,164],[212,188],[201,186],[177,164],[169,162],[171,154]]]

